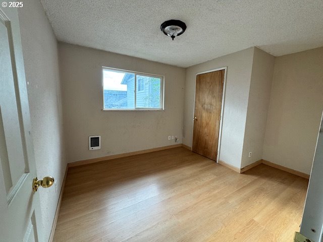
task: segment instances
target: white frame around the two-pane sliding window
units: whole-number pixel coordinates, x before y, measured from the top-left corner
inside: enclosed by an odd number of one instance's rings
[[[103,72],[104,70],[107,71],[113,71],[113,72],[119,72],[119,73],[128,73],[128,74],[134,74],[135,75],[135,89],[134,89],[134,108],[104,108],[104,85],[103,85]],[[164,97],[165,97],[165,76],[162,75],[155,75],[150,73],[144,73],[144,72],[134,72],[134,71],[128,71],[123,69],[117,69],[117,68],[111,68],[111,67],[101,67],[101,84],[102,84],[102,105],[103,109],[102,111],[163,111],[164,108]],[[160,100],[159,100],[159,108],[149,108],[149,107],[137,107],[137,75],[139,76],[147,76],[147,77],[155,77],[160,78]],[[145,86],[145,85],[144,85]],[[142,91],[139,91],[142,92]]]

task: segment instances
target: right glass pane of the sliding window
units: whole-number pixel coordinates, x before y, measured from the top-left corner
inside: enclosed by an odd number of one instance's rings
[[[160,84],[158,77],[137,75],[136,106],[139,108],[160,108]]]

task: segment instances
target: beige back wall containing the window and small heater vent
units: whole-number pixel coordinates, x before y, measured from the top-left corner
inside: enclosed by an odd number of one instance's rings
[[[69,162],[182,143],[185,69],[144,59],[59,43],[64,123]],[[165,76],[165,110],[102,111],[101,67]],[[88,150],[88,136],[101,149]]]

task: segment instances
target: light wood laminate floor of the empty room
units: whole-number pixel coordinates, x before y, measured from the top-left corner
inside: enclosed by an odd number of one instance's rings
[[[73,167],[54,241],[292,241],[307,182],[184,148]]]

